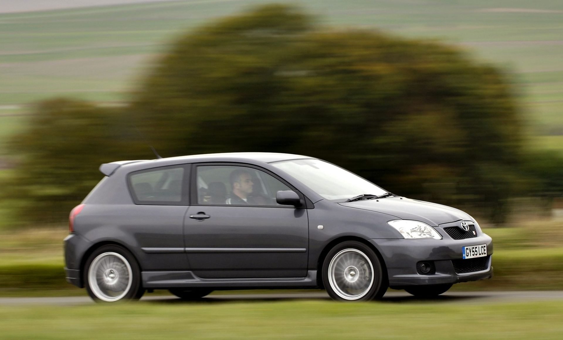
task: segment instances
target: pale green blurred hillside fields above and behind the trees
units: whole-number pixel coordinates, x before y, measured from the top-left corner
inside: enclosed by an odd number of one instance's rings
[[[143,3],[0,15],[0,105],[124,101],[177,34],[270,0]],[[277,1],[296,3],[295,1]],[[563,134],[563,2],[302,0],[323,24],[458,44],[512,73],[534,134]],[[0,117],[0,126],[9,126]],[[10,132],[0,129],[0,140]]]

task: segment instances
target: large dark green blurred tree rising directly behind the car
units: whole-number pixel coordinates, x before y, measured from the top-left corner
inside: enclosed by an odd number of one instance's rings
[[[496,222],[524,184],[522,123],[501,71],[440,43],[323,30],[294,7],[180,37],[127,114],[163,156],[306,154],[397,194],[480,203]]]

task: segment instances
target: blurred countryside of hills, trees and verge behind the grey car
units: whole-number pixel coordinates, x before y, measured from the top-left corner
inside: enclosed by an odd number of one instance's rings
[[[556,0],[0,1],[0,294],[75,293],[68,213],[149,144],[328,160],[477,218],[496,277],[458,289],[562,289],[561,23]]]

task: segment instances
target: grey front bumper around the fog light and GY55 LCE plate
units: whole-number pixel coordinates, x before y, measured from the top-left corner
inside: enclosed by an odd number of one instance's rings
[[[489,279],[493,276],[492,254],[493,242],[491,238],[482,234],[476,238],[453,240],[444,239],[371,239],[381,253],[387,268],[389,286],[401,289],[413,285],[453,284],[459,282]],[[471,272],[456,272],[454,262],[462,260],[462,247],[468,245],[486,244],[487,260],[482,269]],[[435,274],[420,274],[417,263],[431,261],[435,265]],[[463,263],[463,262],[462,262]]]

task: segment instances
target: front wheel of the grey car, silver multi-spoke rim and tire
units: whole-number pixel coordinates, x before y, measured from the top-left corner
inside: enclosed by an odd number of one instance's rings
[[[377,254],[358,241],[345,241],[330,249],[322,275],[327,293],[338,301],[378,299],[387,290],[387,277]]]

